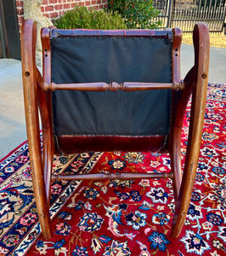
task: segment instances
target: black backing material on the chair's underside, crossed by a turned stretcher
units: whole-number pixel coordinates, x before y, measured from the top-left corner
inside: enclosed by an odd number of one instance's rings
[[[172,82],[172,43],[150,37],[51,40],[52,82]],[[54,133],[167,136],[171,90],[53,92]]]

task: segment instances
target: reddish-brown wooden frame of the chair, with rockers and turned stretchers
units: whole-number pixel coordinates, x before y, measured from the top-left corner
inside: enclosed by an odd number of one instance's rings
[[[56,177],[51,174],[54,158],[53,121],[51,113],[51,90],[155,90],[159,84],[54,84],[51,82],[51,52],[49,31],[42,29],[43,58],[42,74],[36,67],[37,30],[33,20],[25,20],[21,33],[22,77],[25,99],[25,120],[32,171],[33,188],[37,204],[37,213],[44,238],[51,237],[49,218],[50,184],[54,179],[128,179],[171,177],[175,196],[176,209],[172,219],[172,237],[179,236],[189,208],[189,201],[195,182],[195,173],[199,158],[201,136],[203,129],[206,90],[209,67],[209,32],[204,23],[195,25],[193,40],[195,47],[195,65],[186,75],[184,81],[180,79],[180,44],[182,32],[175,28],[172,44],[172,84],[161,84],[161,89],[172,88],[172,121],[168,152],[171,158],[172,172],[169,174],[150,173],[121,173],[109,175],[103,173],[82,174],[74,176]],[[177,67],[177,68],[175,68]],[[178,97],[178,90],[181,90]],[[181,168],[181,134],[184,112],[192,95],[189,139],[184,164],[184,174]],[[42,119],[42,150],[40,139],[40,125],[38,111]]]

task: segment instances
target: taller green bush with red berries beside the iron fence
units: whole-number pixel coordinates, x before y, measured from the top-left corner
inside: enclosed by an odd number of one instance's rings
[[[160,11],[154,8],[152,0],[109,0],[108,6],[110,11],[121,14],[129,29],[161,26],[161,20],[153,20]]]

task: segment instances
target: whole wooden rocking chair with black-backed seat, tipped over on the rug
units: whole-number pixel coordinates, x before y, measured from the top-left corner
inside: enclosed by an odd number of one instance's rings
[[[42,75],[36,66],[36,25],[21,35],[25,119],[37,213],[51,237],[50,184],[55,179],[172,178],[172,237],[188,212],[201,146],[209,65],[209,32],[195,25],[195,64],[180,78],[179,28],[167,30],[42,29]],[[181,168],[184,111],[192,96],[189,138]],[[38,111],[42,119],[42,150]],[[54,154],[85,151],[169,152],[170,173],[51,173]]]

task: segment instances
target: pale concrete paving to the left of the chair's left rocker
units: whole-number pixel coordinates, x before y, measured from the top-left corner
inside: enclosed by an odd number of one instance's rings
[[[0,160],[26,140],[21,62],[0,59]]]

